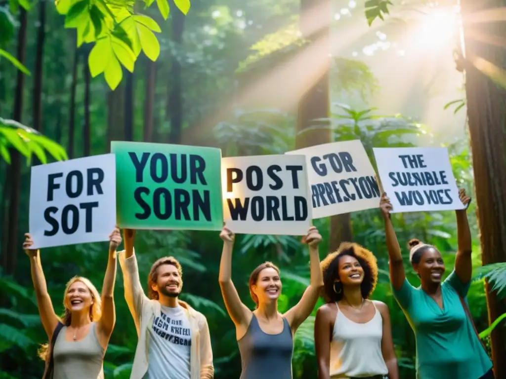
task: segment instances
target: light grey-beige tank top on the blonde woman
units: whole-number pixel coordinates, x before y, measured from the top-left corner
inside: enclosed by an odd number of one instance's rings
[[[65,340],[66,326],[56,338],[53,379],[104,379],[104,349],[97,338],[96,323],[80,341]]]

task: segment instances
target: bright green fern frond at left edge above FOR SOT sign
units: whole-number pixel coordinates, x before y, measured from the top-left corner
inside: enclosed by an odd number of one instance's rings
[[[11,163],[10,148],[16,149],[25,156],[28,165],[33,154],[41,163],[47,163],[46,152],[58,161],[68,159],[62,146],[35,129],[14,120],[0,118],[0,156],[9,164]]]

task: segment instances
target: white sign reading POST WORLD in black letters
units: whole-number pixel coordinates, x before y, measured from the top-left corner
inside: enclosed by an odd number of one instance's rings
[[[234,233],[305,235],[311,226],[303,155],[222,158],[222,187]]]

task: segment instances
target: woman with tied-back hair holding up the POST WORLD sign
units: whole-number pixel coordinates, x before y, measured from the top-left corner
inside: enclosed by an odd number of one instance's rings
[[[242,363],[240,379],[291,379],[293,336],[313,311],[323,287],[318,256],[321,235],[312,226],[303,240],[309,245],[311,282],[299,303],[284,314],[278,312],[277,304],[282,287],[279,269],[271,262],[262,263],[249,278],[249,293],[256,309],[251,311],[241,302],[231,279],[234,234],[225,227],[220,237],[224,244],[219,280],[225,306],[235,324]]]

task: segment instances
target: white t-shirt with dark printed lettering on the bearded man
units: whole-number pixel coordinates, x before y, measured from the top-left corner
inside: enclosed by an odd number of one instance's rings
[[[190,379],[190,321],[181,306],[161,306],[148,333],[144,379]]]

